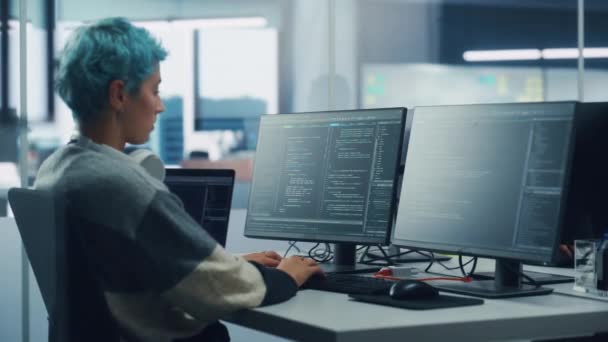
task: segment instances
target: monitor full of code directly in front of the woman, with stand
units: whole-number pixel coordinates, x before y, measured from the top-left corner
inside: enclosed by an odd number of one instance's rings
[[[333,242],[330,272],[355,272],[356,245],[387,244],[405,108],[265,115],[245,236]]]

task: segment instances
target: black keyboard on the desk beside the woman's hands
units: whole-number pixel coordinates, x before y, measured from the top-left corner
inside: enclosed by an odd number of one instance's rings
[[[394,281],[365,277],[356,274],[328,273],[326,277],[313,276],[302,289],[346,294],[388,294]]]

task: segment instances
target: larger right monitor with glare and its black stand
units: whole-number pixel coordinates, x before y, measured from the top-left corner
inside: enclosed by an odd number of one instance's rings
[[[549,293],[522,261],[560,243],[575,102],[417,107],[392,243],[496,259],[495,281],[441,285],[484,297]]]

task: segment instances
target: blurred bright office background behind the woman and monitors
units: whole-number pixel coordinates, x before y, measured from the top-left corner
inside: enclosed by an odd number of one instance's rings
[[[170,52],[146,147],[166,164],[236,169],[234,208],[247,205],[262,114],[608,100],[605,0],[26,1],[0,0],[0,217],[6,189],[74,131],[53,91],[64,43],[109,16]],[[19,300],[23,282],[37,291],[19,243],[0,229],[0,340],[42,341],[41,303]]]

